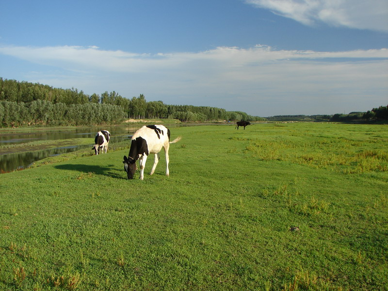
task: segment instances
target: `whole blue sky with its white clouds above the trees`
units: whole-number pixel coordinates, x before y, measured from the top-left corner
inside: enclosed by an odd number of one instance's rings
[[[387,0],[1,1],[0,77],[251,115],[388,104]]]

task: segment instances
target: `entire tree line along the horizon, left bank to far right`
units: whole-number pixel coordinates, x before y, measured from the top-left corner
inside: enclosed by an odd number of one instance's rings
[[[84,94],[77,89],[60,89],[39,83],[0,78],[0,127],[28,124],[98,125],[113,124],[123,118],[175,118],[182,122],[229,121],[365,121],[388,120],[386,106],[362,113],[334,115],[277,115],[262,118],[240,111],[209,106],[167,105],[146,101],[141,94],[131,99],[115,91],[101,95]],[[10,103],[7,103],[10,102]]]

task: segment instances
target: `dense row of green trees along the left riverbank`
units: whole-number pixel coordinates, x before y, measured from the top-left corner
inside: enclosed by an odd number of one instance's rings
[[[0,78],[0,101],[15,102],[12,103],[13,105],[7,103],[6,106],[8,107],[20,107],[18,115],[14,116],[14,120],[10,121],[12,118],[4,119],[3,117],[4,120],[1,121],[0,118],[0,126],[16,126],[18,124],[81,125],[99,124],[99,122],[112,123],[120,120],[118,116],[121,117],[121,114],[126,118],[175,118],[182,122],[237,121],[242,119],[247,121],[263,120],[263,118],[258,116],[251,116],[243,112],[227,112],[225,109],[216,107],[166,105],[162,101],[147,102],[143,94],[131,99],[124,98],[115,91],[89,96],[74,88],[60,89],[39,83],[19,82],[3,78]],[[38,101],[45,101],[46,103],[39,103]],[[28,108],[30,111],[35,112],[32,108],[36,106],[37,102],[43,108],[45,106],[48,107],[47,117],[44,114],[32,114],[30,116],[23,112],[23,108]],[[93,114],[96,116],[97,112],[102,108],[101,106],[96,107],[96,105],[112,105],[113,107],[105,106],[104,110],[114,112],[112,114],[109,113],[114,117],[101,117],[101,114],[98,113],[98,117],[93,118]],[[114,106],[121,108],[123,113],[121,111],[119,113],[116,112],[119,110]],[[81,110],[85,112],[82,113]],[[93,110],[95,113],[93,113]],[[72,115],[74,111],[78,112],[77,116]],[[90,111],[92,113],[89,113]],[[16,112],[16,109],[13,112]],[[90,117],[82,118],[81,116],[83,115]],[[30,118],[29,116],[31,117],[30,120],[28,119]],[[80,120],[77,118],[80,118]]]

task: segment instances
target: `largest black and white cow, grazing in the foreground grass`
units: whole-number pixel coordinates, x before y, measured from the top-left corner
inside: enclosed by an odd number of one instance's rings
[[[152,175],[159,162],[159,152],[162,150],[162,147],[164,147],[166,155],[166,176],[169,176],[168,162],[170,159],[168,157],[168,149],[170,144],[175,144],[179,140],[180,137],[177,137],[174,141],[170,142],[170,129],[162,125],[145,125],[138,129],[132,136],[128,158],[124,156],[124,170],[127,172],[128,178],[133,178],[136,171],[136,161],[139,160],[140,179],[143,180],[147,157],[149,154],[155,154],[154,165],[150,173]]]

